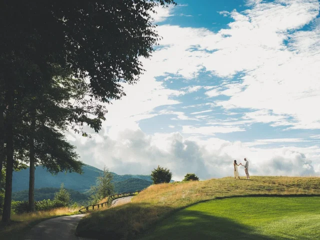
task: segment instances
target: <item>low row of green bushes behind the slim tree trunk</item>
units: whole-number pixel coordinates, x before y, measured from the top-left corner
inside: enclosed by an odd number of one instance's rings
[[[65,202],[59,200],[42,200],[35,201],[35,210],[36,211],[46,211],[58,207],[67,206]],[[11,213],[21,214],[28,211],[28,201],[11,201]]]

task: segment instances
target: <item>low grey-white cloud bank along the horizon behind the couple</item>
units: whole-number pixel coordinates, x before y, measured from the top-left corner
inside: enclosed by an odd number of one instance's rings
[[[219,138],[184,138],[179,132],[147,135],[140,129],[123,129],[118,133],[117,139],[106,135],[96,141],[94,135],[85,143],[76,142],[81,160],[97,167],[106,164],[118,174],[149,174],[159,164],[168,167],[175,180],[181,180],[187,172],[201,179],[230,176],[233,159],[243,162],[244,157],[250,162],[251,175],[320,173],[313,167],[320,164],[320,150],[316,147],[262,149]]]

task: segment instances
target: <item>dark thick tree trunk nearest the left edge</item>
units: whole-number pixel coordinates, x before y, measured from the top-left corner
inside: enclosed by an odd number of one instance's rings
[[[7,114],[5,117],[5,142],[6,142],[6,172],[5,172],[5,194],[2,212],[2,222],[8,223],[10,221],[11,213],[11,194],[12,194],[12,171],[13,171],[13,104],[14,91],[8,90],[6,92],[8,103]]]

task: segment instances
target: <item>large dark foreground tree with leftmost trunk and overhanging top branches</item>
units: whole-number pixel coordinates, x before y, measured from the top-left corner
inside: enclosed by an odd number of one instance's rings
[[[159,39],[150,12],[165,3],[174,2],[0,1],[0,22],[5,22],[0,24],[0,114],[5,109],[6,156],[3,222],[10,220],[14,126],[19,121],[14,112],[25,96],[49,89],[52,72],[61,67],[75,78],[89,80],[89,99],[106,103],[120,99],[125,95],[121,82],[138,80],[143,71],[140,58],[149,57]],[[32,111],[27,109],[30,115]]]

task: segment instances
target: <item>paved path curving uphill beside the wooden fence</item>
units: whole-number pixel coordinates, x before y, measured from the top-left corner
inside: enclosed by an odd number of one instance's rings
[[[111,205],[127,203],[132,196],[118,198],[112,201]],[[24,240],[85,240],[75,236],[75,228],[84,214],[60,216],[51,218],[33,226],[30,232],[25,236]],[[91,239],[92,240],[92,239]]]

